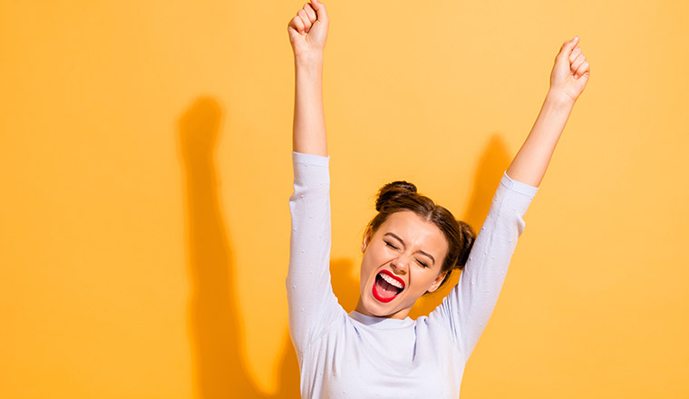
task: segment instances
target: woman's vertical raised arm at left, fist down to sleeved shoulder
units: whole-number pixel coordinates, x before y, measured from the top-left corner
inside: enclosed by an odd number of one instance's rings
[[[330,177],[321,94],[325,5],[314,0],[290,21],[295,52],[295,120],[289,198],[292,231],[286,288],[289,333],[301,362],[303,352],[344,309],[330,285]]]

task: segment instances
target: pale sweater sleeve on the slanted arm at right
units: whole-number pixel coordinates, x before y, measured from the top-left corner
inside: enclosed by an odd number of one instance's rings
[[[509,260],[525,228],[524,214],[538,190],[503,173],[458,284],[429,315],[450,329],[465,362],[498,301]]]

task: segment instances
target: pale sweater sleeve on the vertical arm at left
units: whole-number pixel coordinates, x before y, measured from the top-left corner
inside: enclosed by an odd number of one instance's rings
[[[330,157],[292,152],[294,192],[286,288],[289,333],[301,362],[306,345],[340,311],[330,285]]]

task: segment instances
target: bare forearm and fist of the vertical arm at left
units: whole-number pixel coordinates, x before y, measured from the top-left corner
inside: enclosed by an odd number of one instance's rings
[[[289,21],[295,54],[295,119],[292,150],[327,155],[323,112],[323,55],[330,20],[318,0],[306,3]]]

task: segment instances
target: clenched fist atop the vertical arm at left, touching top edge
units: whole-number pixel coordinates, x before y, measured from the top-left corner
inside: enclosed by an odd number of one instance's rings
[[[320,0],[311,0],[287,24],[289,43],[297,56],[323,54],[330,20],[325,5]]]

